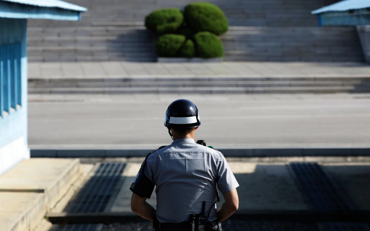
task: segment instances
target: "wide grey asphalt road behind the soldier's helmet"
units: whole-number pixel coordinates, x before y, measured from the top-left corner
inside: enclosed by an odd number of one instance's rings
[[[369,94],[30,95],[31,148],[131,148],[171,143],[169,103],[192,100],[195,139],[215,147],[369,147]]]

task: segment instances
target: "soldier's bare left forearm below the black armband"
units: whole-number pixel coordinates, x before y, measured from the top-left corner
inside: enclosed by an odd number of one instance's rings
[[[152,221],[155,217],[155,208],[153,208],[146,200],[146,197],[141,197],[132,193],[131,210],[140,217]]]

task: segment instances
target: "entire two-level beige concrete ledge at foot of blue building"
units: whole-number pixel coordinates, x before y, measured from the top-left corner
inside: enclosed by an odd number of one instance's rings
[[[79,159],[32,158],[0,176],[1,230],[34,230],[80,175]]]

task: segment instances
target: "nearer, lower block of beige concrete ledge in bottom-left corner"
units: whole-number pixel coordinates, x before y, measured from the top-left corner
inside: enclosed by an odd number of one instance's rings
[[[0,230],[34,230],[47,211],[44,193],[0,192]]]

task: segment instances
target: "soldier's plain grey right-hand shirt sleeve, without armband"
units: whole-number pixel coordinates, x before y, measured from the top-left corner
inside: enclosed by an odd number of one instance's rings
[[[227,193],[234,188],[239,187],[239,183],[236,181],[235,176],[223,155],[221,156],[221,161],[218,165],[217,177],[217,185],[221,193]]]

